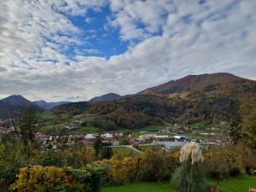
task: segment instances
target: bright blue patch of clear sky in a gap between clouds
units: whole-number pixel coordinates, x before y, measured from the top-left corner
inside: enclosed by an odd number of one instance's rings
[[[110,16],[109,5],[101,10],[90,9],[86,16],[68,16],[73,25],[79,27],[79,36],[85,43],[76,47],[71,46],[67,55],[77,55],[78,51],[81,55],[98,55],[105,58],[123,54],[128,49],[129,42],[119,39],[119,28],[109,27]]]

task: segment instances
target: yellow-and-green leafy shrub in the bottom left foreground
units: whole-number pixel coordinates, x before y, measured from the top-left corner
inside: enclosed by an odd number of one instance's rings
[[[90,164],[82,169],[55,166],[27,166],[20,169],[10,189],[21,191],[99,192],[106,166]]]

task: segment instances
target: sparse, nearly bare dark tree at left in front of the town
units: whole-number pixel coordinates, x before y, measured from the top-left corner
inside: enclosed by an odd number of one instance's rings
[[[28,143],[34,141],[35,133],[39,128],[40,113],[36,108],[30,107],[25,113],[20,113],[17,118],[14,118],[11,111],[12,125],[15,129],[15,134],[19,140],[27,146]]]

